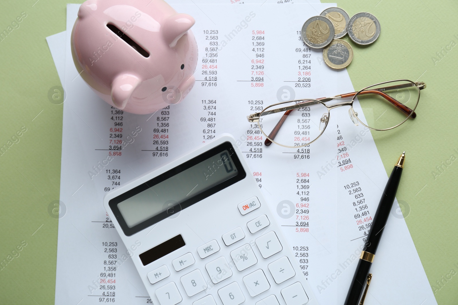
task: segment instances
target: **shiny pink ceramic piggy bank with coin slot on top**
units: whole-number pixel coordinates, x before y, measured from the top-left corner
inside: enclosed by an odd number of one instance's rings
[[[194,23],[163,0],[87,0],[71,32],[71,54],[105,102],[152,113],[180,102],[194,86]]]

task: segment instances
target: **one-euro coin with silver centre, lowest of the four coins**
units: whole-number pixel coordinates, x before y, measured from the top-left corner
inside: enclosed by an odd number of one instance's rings
[[[353,59],[353,49],[345,40],[334,39],[323,50],[323,59],[333,69],[344,69]]]

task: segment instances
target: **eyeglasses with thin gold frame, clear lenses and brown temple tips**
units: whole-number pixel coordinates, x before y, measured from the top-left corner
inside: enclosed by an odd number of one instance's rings
[[[411,80],[391,80],[365,87],[358,92],[323,97],[318,99],[300,99],[279,102],[266,107],[261,112],[247,116],[249,122],[257,122],[262,134],[266,136],[264,144],[272,143],[284,147],[303,147],[316,141],[324,132],[329,122],[330,110],[349,105],[352,122],[359,123],[372,130],[389,130],[398,127],[409,118],[416,117],[415,108],[420,100],[420,90],[425,89],[424,82]],[[349,98],[350,102],[326,105],[337,98]],[[358,98],[367,123],[358,118],[353,109]]]

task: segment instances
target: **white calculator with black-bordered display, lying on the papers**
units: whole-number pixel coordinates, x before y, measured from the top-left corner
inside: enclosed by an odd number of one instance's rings
[[[223,135],[105,196],[153,304],[317,304],[236,147]]]

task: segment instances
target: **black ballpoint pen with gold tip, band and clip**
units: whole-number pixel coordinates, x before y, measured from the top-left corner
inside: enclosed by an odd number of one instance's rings
[[[380,242],[380,238],[382,237],[383,228],[387,225],[388,216],[393,206],[394,198],[396,197],[396,191],[398,190],[399,181],[401,180],[404,159],[405,151],[399,157],[398,163],[394,166],[388,178],[387,186],[383,191],[382,199],[380,199],[377,212],[372,220],[371,230],[369,231],[364,251],[361,252],[361,257],[358,261],[358,266],[356,267],[344,305],[364,304],[367,289],[372,279],[372,273],[369,273],[369,269],[374,261],[375,252]],[[362,297],[361,294],[363,294]]]

